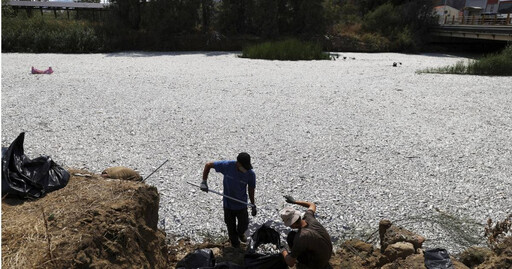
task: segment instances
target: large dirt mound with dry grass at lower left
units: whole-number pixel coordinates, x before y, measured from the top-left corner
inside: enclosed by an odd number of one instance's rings
[[[41,199],[2,199],[2,267],[167,267],[156,188],[69,172],[65,188]]]

